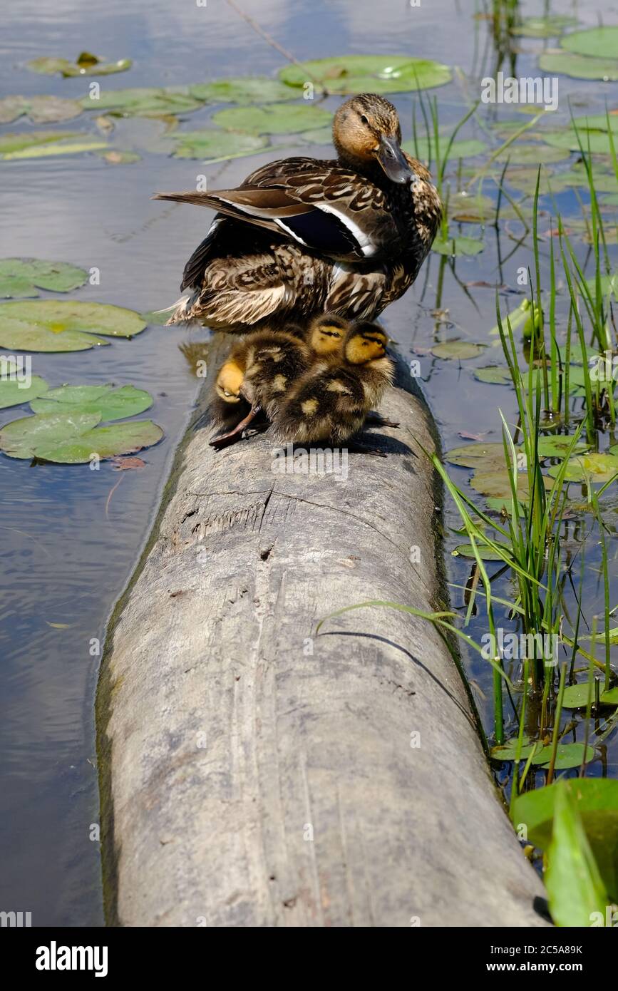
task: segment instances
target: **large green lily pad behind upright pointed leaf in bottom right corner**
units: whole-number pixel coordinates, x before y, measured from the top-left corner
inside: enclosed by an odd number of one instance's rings
[[[609,778],[577,778],[561,782],[579,813],[607,892],[618,901],[618,782]],[[557,786],[519,795],[513,823],[525,824],[528,839],[543,850],[552,841]]]

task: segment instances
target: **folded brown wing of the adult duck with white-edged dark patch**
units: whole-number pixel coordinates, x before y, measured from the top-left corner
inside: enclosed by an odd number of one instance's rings
[[[285,159],[258,168],[238,189],[154,198],[211,207],[338,261],[379,258],[400,238],[384,192],[336,162]]]

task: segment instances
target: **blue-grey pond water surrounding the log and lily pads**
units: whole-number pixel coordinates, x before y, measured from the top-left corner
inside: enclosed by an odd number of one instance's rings
[[[382,5],[372,0],[315,0],[312,4],[243,0],[242,6],[301,60],[383,53],[423,55],[457,64],[462,75],[430,91],[438,97],[441,126],[464,115],[466,101],[478,98],[479,78],[495,67],[489,22],[483,17],[475,19],[474,5],[465,0],[421,0],[418,6],[406,0]],[[482,13],[482,4],[476,6]],[[521,10],[524,15],[537,15],[544,5],[523,4]],[[554,14],[573,12],[580,26],[595,26],[600,15],[606,23],[618,23],[618,5],[611,0],[585,8],[552,5]],[[516,62],[507,57],[505,70],[515,64],[513,74],[536,75],[538,55],[546,44],[520,39]],[[557,45],[556,40],[551,44]],[[0,96],[83,96],[88,80],[38,75],[24,67],[40,55],[75,57],[83,50],[134,60],[129,72],[99,79],[103,90],[185,85],[230,74],[274,75],[283,63],[282,56],[222,0],[209,0],[203,7],[189,0],[137,0],[130,5],[118,0],[104,5],[83,0],[25,0],[12,6],[10,21],[0,34]],[[560,86],[558,117],[563,122],[568,119],[569,95],[577,113],[604,112],[605,97],[610,107],[618,105],[618,83],[602,86],[561,76]],[[404,138],[409,139],[415,96],[405,93],[392,98],[400,112]],[[324,106],[333,110],[338,103],[338,98],[329,98]],[[180,128],[204,126],[217,109],[206,107],[180,115]],[[479,110],[485,128],[496,116],[495,106]],[[505,119],[514,116],[504,114]],[[470,122],[465,137],[486,141],[481,124]],[[0,137],[30,128],[22,118],[3,125]],[[67,129],[98,134],[92,118],[85,114]],[[110,140],[114,147],[138,150],[141,156],[129,165],[110,165],[94,155],[0,162],[0,258],[36,257],[98,269],[100,283],[85,285],[71,298],[114,303],[139,312],[171,303],[178,294],[182,266],[202,239],[211,214],[153,202],[151,195],[158,189],[194,188],[202,171],[213,188],[235,185],[273,155],[216,165],[172,159],[163,130],[164,125],[153,120],[129,118],[116,124]],[[317,146],[307,151],[294,138],[279,141],[284,155],[330,154]],[[494,147],[499,144],[500,139],[495,139]],[[478,164],[478,160],[471,161]],[[492,183],[483,191],[495,198]],[[584,204],[588,202],[585,190],[579,190],[579,195]],[[581,216],[572,189],[561,192],[556,202],[566,217]],[[543,209],[550,206],[547,198],[542,201]],[[544,223],[548,228],[547,215],[541,220],[541,230]],[[433,357],[429,348],[437,340],[452,337],[489,346],[495,343],[488,335],[495,324],[493,286],[501,286],[504,306],[513,309],[526,291],[518,286],[517,272],[533,265],[531,238],[524,238],[517,247],[521,237],[517,224],[507,219],[497,230],[488,226],[484,232],[478,226],[463,225],[457,233],[484,237],[482,254],[457,258],[455,264],[432,255],[414,288],[382,318],[400,353],[419,361],[422,387],[445,450],[464,443],[461,431],[483,435],[487,441],[500,440],[498,408],[509,423],[515,419],[514,392],[507,386],[478,383],[472,376],[473,368],[490,364],[486,353],[460,362]],[[615,265],[615,239],[608,251]],[[585,260],[587,249],[578,245],[577,253]],[[501,266],[499,257],[505,260]],[[547,239],[542,246],[542,269],[547,277]],[[42,296],[51,297],[51,293],[44,291]],[[99,662],[99,656],[91,653],[92,641],[102,641],[109,612],[149,533],[175,446],[190,416],[198,380],[181,346],[205,338],[200,330],[153,325],[133,340],[114,340],[108,348],[33,356],[33,371],[51,385],[115,383],[148,389],[154,396],[148,415],[163,428],[164,439],[142,452],[145,467],[124,472],[114,471],[110,462],[102,462],[99,471],[90,471],[87,465],[30,467],[28,461],[0,455],[0,828],[4,851],[0,908],[32,912],[35,926],[103,925],[99,844],[96,837],[91,838],[92,825],[98,822],[93,704]],[[501,362],[499,349],[493,357]],[[578,401],[573,400],[574,410]],[[0,426],[26,415],[27,408],[2,410]],[[615,442],[605,435],[601,448]],[[467,485],[466,469],[455,468],[451,474],[458,485]],[[605,522],[611,604],[618,601],[615,519],[610,505]],[[598,535],[589,514],[574,513],[567,524],[571,531],[577,521],[579,534],[571,533],[573,554],[581,535],[587,534],[586,620],[591,622],[591,615],[601,614],[603,605]],[[447,530],[460,525],[451,508],[445,522]],[[448,553],[462,539],[448,533]],[[449,560],[451,581],[464,585],[469,562]],[[506,580],[497,588],[499,595],[509,597]],[[461,608],[461,592],[454,591],[453,604]],[[476,626],[472,620],[469,632],[475,639],[484,631],[480,618]],[[472,653],[464,661],[490,734],[490,669]],[[510,711],[506,716],[507,722],[512,721]],[[618,746],[610,735],[587,773],[614,776],[617,758]],[[506,770],[501,773],[505,776]]]

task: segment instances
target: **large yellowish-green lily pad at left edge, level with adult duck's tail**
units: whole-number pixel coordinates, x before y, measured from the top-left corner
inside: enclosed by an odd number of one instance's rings
[[[85,351],[109,344],[99,334],[130,338],[146,326],[134,310],[107,303],[42,299],[0,305],[0,347],[11,351]]]

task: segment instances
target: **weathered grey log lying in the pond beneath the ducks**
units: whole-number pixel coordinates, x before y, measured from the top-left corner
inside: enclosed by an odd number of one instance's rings
[[[388,457],[350,454],[345,482],[274,474],[267,434],[217,454],[190,431],[103,662],[112,923],[544,925],[431,624],[370,607],[316,635],[364,600],[440,606],[434,438],[404,385],[400,429],[370,431]]]

